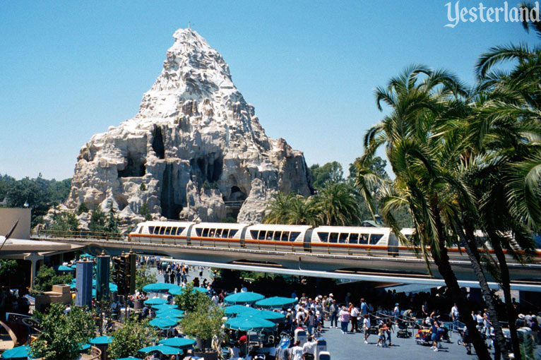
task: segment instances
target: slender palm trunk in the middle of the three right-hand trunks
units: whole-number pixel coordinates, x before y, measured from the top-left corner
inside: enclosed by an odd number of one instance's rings
[[[487,282],[487,277],[484,275],[484,271],[479,260],[479,252],[477,251],[477,245],[475,244],[475,236],[473,236],[472,232],[466,232],[466,234],[470,235],[466,236],[463,228],[460,226],[458,218],[456,217],[454,219],[453,226],[455,227],[455,230],[460,239],[460,244],[465,248],[465,251],[468,254],[468,258],[470,258],[473,272],[477,277],[477,281],[479,281],[481,292],[483,294],[483,299],[485,304],[487,304],[487,310],[492,320],[492,327],[494,328],[494,335],[496,335],[497,345],[501,351],[502,356],[504,356],[504,359],[509,359],[509,354],[507,354],[506,352],[506,340],[504,337],[504,332],[503,330],[501,330],[501,324],[499,322],[496,304],[494,304],[494,296],[492,296],[492,292],[490,291],[490,287]]]

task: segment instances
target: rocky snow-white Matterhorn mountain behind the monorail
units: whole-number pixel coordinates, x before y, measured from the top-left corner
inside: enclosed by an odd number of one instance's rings
[[[266,136],[222,56],[194,30],[173,37],[138,114],[81,148],[64,205],[112,206],[125,223],[145,203],[155,219],[254,223],[276,191],[309,195],[302,152]]]

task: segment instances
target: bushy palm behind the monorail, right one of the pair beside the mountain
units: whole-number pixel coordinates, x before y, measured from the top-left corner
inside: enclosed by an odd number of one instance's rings
[[[327,181],[313,202],[322,224],[352,226],[361,221],[355,189],[343,181]]]

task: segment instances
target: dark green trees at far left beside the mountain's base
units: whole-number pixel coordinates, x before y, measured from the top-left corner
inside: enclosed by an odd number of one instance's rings
[[[71,179],[57,181],[25,177],[16,180],[11,176],[0,176],[0,200],[7,198],[10,208],[23,208],[25,203],[32,208],[32,227],[42,221],[49,208],[57,205],[69,195]]]

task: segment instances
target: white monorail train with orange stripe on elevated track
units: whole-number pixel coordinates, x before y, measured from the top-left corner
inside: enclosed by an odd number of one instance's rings
[[[401,233],[408,238],[414,229]],[[477,232],[484,241],[481,232]],[[325,253],[350,256],[398,256],[411,254],[388,227],[311,227],[308,225],[231,224],[222,222],[141,222],[129,240],[150,244],[246,248],[261,251]],[[536,238],[536,241],[541,240]],[[537,244],[537,248],[540,244]],[[451,256],[464,256],[457,248]],[[537,250],[537,258],[541,255]]]

